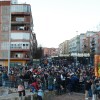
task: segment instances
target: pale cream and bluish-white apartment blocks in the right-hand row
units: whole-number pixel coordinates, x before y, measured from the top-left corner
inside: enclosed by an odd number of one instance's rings
[[[83,39],[85,38],[85,36],[86,35],[84,33],[81,33],[80,35],[77,35],[72,39],[66,40],[59,44],[59,55],[68,56],[68,54],[71,54],[72,56],[76,56],[77,53],[83,53]]]

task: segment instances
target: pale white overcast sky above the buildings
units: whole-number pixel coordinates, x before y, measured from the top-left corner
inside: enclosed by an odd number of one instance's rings
[[[87,30],[98,29],[100,0],[19,0],[31,4],[34,32],[42,47],[58,47]]]

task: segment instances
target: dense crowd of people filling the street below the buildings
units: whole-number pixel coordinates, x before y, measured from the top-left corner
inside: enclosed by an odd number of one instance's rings
[[[94,75],[94,67],[82,64],[15,67],[10,68],[9,75],[7,70],[3,70],[1,76],[2,85],[10,80],[14,87],[18,86],[19,96],[21,92],[25,95],[25,89],[30,89],[30,92],[37,92],[38,100],[42,100],[45,90],[56,91],[57,95],[82,92],[87,100],[100,90],[100,80]]]

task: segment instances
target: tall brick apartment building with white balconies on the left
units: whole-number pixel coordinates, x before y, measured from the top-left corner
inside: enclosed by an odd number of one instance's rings
[[[2,0],[0,8],[0,64],[8,66],[10,59],[11,66],[25,66],[37,46],[31,5]]]

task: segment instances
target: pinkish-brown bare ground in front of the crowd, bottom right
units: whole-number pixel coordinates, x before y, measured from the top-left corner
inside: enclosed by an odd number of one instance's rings
[[[73,93],[71,95],[64,94],[64,95],[59,95],[53,98],[53,100],[85,100],[84,94],[81,93]],[[89,98],[89,100],[92,100]]]

